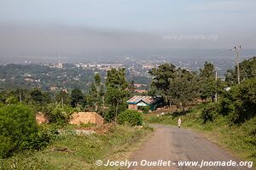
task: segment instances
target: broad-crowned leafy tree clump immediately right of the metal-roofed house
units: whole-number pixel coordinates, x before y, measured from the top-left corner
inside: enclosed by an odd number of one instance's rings
[[[162,96],[168,105],[188,105],[198,97],[198,81],[194,73],[172,64],[160,65],[149,73],[153,76],[151,95]]]

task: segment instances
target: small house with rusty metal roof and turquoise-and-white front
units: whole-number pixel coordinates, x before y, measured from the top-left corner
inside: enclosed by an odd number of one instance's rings
[[[160,97],[151,96],[133,96],[126,101],[128,109],[138,110],[139,107],[149,106],[151,111],[154,111],[158,105],[160,105]]]

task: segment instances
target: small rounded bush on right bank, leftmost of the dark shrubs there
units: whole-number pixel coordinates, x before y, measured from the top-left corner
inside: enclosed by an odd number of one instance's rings
[[[203,122],[212,122],[218,116],[219,113],[219,105],[216,103],[210,103],[206,108],[201,112],[201,118]]]

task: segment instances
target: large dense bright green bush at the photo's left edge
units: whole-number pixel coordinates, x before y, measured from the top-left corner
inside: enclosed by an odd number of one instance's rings
[[[38,132],[35,114],[25,105],[8,105],[0,108],[0,157],[20,150],[32,133]]]

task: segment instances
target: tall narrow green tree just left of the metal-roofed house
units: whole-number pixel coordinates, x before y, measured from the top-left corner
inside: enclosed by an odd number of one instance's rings
[[[116,122],[120,111],[123,111],[125,99],[128,96],[128,83],[125,80],[125,68],[111,69],[107,72],[107,102],[109,105],[108,119]]]

